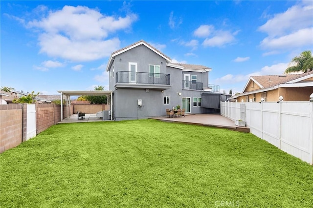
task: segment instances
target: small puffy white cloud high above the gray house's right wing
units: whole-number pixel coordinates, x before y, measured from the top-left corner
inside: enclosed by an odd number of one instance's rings
[[[235,41],[235,37],[228,31],[217,31],[212,38],[206,38],[203,42],[203,46],[210,47],[222,47],[227,43]]]

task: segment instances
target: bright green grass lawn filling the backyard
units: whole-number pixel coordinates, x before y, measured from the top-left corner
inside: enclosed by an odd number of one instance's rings
[[[54,125],[0,155],[0,180],[1,208],[313,206],[313,166],[249,133],[156,120]]]

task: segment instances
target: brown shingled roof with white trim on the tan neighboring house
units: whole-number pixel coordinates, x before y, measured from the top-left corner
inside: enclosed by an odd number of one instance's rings
[[[278,87],[304,87],[313,86],[313,82],[306,82],[305,84],[301,81],[313,77],[313,71],[302,73],[302,74],[284,74],[284,75],[265,75],[265,76],[252,76],[249,78],[243,93],[232,96],[231,99],[238,98],[243,95],[249,95],[258,92],[265,92]],[[257,83],[260,89],[245,91],[248,83],[251,81]]]

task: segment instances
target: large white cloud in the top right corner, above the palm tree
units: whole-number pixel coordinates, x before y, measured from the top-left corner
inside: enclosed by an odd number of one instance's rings
[[[309,3],[311,2],[311,3]],[[296,49],[313,44],[313,4],[312,1],[296,2],[287,11],[274,14],[258,30],[268,34],[260,46],[270,50],[266,55],[275,54],[273,51]]]

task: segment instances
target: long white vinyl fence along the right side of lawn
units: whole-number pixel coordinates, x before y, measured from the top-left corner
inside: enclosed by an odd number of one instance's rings
[[[221,115],[246,121],[252,134],[313,165],[313,102],[225,102]]]

